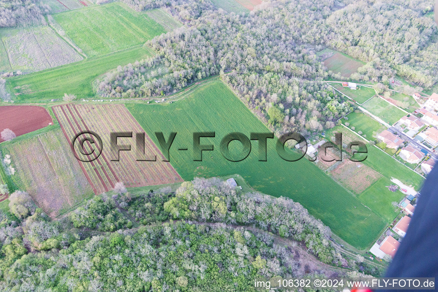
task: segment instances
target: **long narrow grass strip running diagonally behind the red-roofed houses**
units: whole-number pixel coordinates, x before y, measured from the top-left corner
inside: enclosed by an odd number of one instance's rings
[[[346,130],[343,126],[336,126],[330,130],[326,130],[325,134],[327,137],[331,137],[334,136],[334,133],[341,132],[343,133],[342,142],[346,144],[349,143],[349,141],[361,140],[359,136],[354,135],[350,131],[346,131],[348,130]],[[352,135],[354,135],[355,137],[353,137]],[[362,141],[366,143],[365,140]],[[381,151],[374,146],[367,144],[367,150],[367,159],[365,159],[363,162],[365,165],[368,165],[377,172],[380,172],[388,179],[394,177],[396,179],[399,179],[403,183],[406,183],[407,185],[412,185],[415,190],[420,190],[420,187],[422,186],[424,180],[420,175],[401,165],[399,162],[396,161],[396,159],[392,158],[384,151]],[[358,155],[358,157],[360,156]]]

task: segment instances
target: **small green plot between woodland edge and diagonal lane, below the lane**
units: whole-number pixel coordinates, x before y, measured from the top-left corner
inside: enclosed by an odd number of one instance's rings
[[[363,113],[349,113],[346,117],[348,117],[348,120],[343,118],[341,119],[342,123],[344,125],[350,123],[348,127],[355,127],[354,131],[356,133],[362,131],[362,136],[366,135],[364,138],[367,140],[377,138],[381,131],[386,130],[386,127],[381,123]]]

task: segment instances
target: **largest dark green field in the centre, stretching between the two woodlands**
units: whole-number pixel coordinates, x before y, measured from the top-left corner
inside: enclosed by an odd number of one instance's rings
[[[258,161],[257,141],[252,142],[252,151],[245,160],[230,162],[223,158],[219,143],[226,134],[239,131],[249,136],[250,132],[268,132],[268,129],[220,81],[191,91],[185,99],[173,104],[127,104],[127,108],[155,144],[158,144],[155,131],[162,131],[166,138],[170,132],[178,133],[170,148],[170,162],[184,180],[239,173],[255,190],[300,202],[333,232],[361,248],[369,246],[385,227],[382,218],[306,158],[297,162],[280,158],[274,140],[268,139],[267,162]],[[203,152],[202,162],[193,161],[195,131],[215,131],[216,135],[201,138],[201,144],[212,143],[215,147],[214,151]],[[188,150],[178,151],[179,148]],[[233,155],[240,151],[240,143],[230,143]],[[295,152],[289,153],[297,156]]]

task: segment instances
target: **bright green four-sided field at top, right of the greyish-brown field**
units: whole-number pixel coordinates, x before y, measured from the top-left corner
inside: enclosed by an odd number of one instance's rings
[[[53,18],[88,57],[131,48],[166,32],[147,14],[120,2],[66,11]]]

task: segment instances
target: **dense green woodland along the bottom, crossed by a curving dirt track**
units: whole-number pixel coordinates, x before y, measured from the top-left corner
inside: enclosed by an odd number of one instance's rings
[[[134,196],[122,189],[57,221],[27,193],[11,194],[10,212],[0,211],[1,289],[255,291],[254,277],[304,275],[297,243],[347,268],[335,276],[379,273],[363,257],[344,259],[328,227],[290,199],[243,194],[217,178],[196,178],[176,192]],[[275,234],[292,244],[275,243]],[[333,276],[307,276],[315,273]]]

